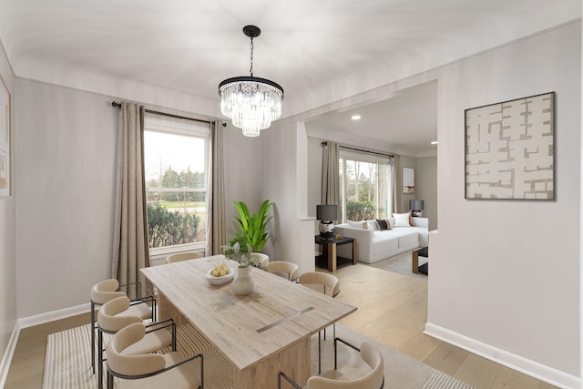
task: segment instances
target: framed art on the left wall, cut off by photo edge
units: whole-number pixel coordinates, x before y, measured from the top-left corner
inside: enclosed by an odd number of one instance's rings
[[[10,136],[10,92],[0,77],[0,198],[12,194]]]

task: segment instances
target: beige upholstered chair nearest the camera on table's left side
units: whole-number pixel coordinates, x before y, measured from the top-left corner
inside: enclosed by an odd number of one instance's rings
[[[202,354],[185,357],[179,352],[139,353],[127,351],[146,335],[143,323],[129,324],[118,331],[106,346],[107,389],[113,389],[114,376],[118,389],[125,388],[203,388],[204,361]],[[191,361],[200,359],[200,374],[192,368]]]

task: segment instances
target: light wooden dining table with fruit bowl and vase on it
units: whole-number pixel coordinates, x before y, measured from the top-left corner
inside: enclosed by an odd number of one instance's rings
[[[217,347],[234,366],[236,389],[277,388],[280,371],[306,384],[312,334],[356,308],[256,268],[253,292],[235,295],[232,282],[216,286],[206,280],[206,272],[220,261],[224,256],[142,269],[158,288],[159,319],[188,321]]]

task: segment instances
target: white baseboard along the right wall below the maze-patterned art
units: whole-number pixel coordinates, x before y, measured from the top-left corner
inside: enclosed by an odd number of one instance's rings
[[[430,322],[425,324],[424,333],[548,384],[564,389],[578,389],[581,387],[581,380],[578,376],[561,372],[553,367],[537,363],[515,353],[508,353],[505,350],[476,341]]]

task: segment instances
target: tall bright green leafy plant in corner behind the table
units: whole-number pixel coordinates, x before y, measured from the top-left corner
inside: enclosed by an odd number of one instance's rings
[[[239,217],[235,217],[240,227],[239,235],[245,237],[247,244],[251,246],[252,252],[261,252],[265,243],[270,239],[270,234],[266,230],[267,223],[273,217],[267,217],[272,203],[270,200],[263,201],[257,213],[251,215],[247,204],[243,201],[233,202],[239,211]],[[234,239],[237,239],[237,237]]]

